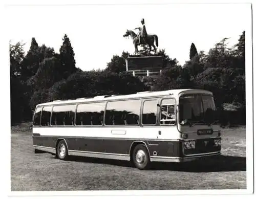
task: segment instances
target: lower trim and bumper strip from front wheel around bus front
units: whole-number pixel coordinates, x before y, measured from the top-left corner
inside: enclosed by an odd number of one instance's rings
[[[198,158],[208,157],[208,156],[216,156],[216,155],[220,155],[220,154],[221,154],[220,152],[215,152],[215,153],[212,153],[212,154],[205,154],[203,156],[184,157],[184,158],[152,156],[151,161],[152,162],[189,162],[189,161],[196,160]]]

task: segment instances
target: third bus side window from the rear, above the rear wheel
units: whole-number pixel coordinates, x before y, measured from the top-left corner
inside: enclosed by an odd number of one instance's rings
[[[53,106],[51,124],[53,126],[73,126],[74,117],[75,104]]]

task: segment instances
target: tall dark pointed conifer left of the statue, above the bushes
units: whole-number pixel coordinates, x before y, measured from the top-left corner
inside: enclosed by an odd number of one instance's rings
[[[59,49],[59,58],[61,64],[61,71],[60,73],[63,74],[63,77],[66,79],[71,74],[75,73],[76,68],[76,61],[75,61],[75,54],[73,48],[71,46],[71,42],[67,34],[63,37],[63,43]]]

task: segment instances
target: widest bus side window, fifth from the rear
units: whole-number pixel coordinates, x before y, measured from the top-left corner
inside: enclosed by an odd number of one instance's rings
[[[108,102],[105,124],[139,125],[140,103],[139,99]]]

